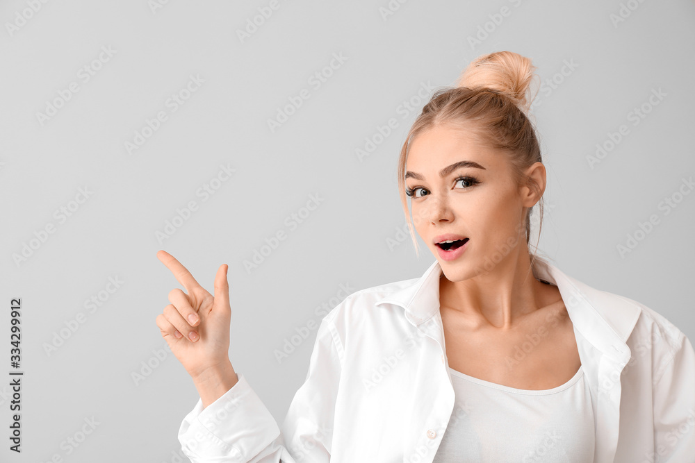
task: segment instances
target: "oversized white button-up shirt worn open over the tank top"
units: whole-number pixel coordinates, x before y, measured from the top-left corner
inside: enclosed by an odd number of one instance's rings
[[[695,350],[661,314],[537,258],[575,327],[595,417],[594,463],[695,462]],[[431,463],[452,415],[436,260],[420,278],[347,296],[321,321],[279,428],[239,380],[183,419],[194,463]],[[682,305],[690,310],[692,303]]]

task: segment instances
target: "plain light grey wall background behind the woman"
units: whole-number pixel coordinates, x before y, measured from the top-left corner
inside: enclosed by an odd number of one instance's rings
[[[693,1],[391,1],[398,9],[384,19],[386,0],[280,0],[242,42],[236,31],[268,4],[170,0],[153,10],[145,0],[53,0],[9,31],[29,6],[0,3],[0,460],[178,461],[177,431],[198,397],[170,352],[155,360],[165,348],[155,317],[178,287],[158,249],[211,292],[215,271],[229,264],[230,357],[281,421],[316,335],[278,362],[275,350],[295,328],[342,300],[340,285],[354,292],[414,278],[434,261],[424,243],[418,260],[409,237],[387,242],[407,230],[398,152],[426,103],[421,85],[452,85],[491,51],[528,56],[543,81],[559,82],[539,92],[533,110],[548,169],[543,254],[695,339],[695,194],[668,215],[658,208],[695,173]],[[630,15],[614,24],[621,6]],[[503,7],[508,15],[494,24],[490,15]],[[468,37],[486,23],[489,36],[472,47]],[[115,53],[83,83],[79,69],[102,46]],[[347,60],[312,87],[309,77],[333,53]],[[577,66],[563,76],[566,62]],[[191,74],[204,83],[170,112],[167,98]],[[37,112],[71,82],[79,92],[40,124]],[[268,119],[304,88],[311,97],[272,133]],[[664,99],[633,125],[630,112],[658,89]],[[399,112],[410,99],[414,110]],[[124,143],[161,110],[167,121],[127,153]],[[391,117],[398,128],[359,160],[355,150]],[[591,169],[587,156],[621,124],[630,133]],[[202,201],[196,191],[222,164],[234,175]],[[54,211],[79,187],[92,195],[59,224]],[[311,194],[322,202],[291,230],[286,217]],[[158,242],[156,231],[189,201],[198,210]],[[616,246],[651,214],[660,224],[621,257]],[[16,264],[13,254],[51,223],[55,233]],[[286,239],[247,272],[244,260],[280,230]],[[124,283],[93,313],[85,310],[109,277]],[[7,444],[15,297],[23,307],[21,456]],[[48,355],[45,344],[79,312],[84,323]],[[143,362],[159,364],[136,385],[132,373]],[[98,426],[68,455],[61,442],[92,417]]]

